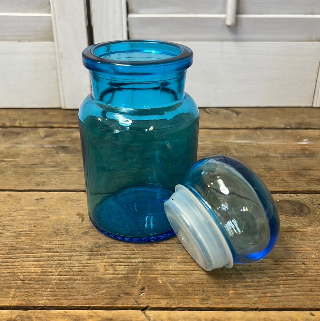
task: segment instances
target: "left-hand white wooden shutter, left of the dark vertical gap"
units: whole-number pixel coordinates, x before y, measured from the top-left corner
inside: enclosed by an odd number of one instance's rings
[[[1,0],[0,107],[78,108],[87,44],[85,0]]]

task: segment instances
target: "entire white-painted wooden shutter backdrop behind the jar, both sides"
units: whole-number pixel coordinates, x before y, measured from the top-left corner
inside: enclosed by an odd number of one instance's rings
[[[95,43],[129,35],[192,48],[186,90],[199,106],[320,107],[319,0],[238,0],[233,26],[225,0],[90,3]],[[78,108],[90,91],[85,0],[0,4],[0,107]]]

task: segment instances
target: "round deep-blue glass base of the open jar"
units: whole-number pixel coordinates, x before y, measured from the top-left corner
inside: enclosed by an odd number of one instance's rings
[[[171,194],[156,184],[130,186],[105,196],[89,217],[97,230],[114,239],[134,243],[167,239],[175,235],[163,208]]]

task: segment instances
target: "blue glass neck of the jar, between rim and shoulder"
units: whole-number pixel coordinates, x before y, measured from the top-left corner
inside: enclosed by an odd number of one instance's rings
[[[157,76],[114,76],[90,72],[95,100],[119,108],[159,108],[179,103],[184,97],[185,73]]]

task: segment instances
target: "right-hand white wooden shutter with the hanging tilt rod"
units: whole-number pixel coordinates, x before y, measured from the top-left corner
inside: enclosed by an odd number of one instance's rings
[[[319,107],[319,0],[227,2],[237,4],[232,26],[225,0],[91,0],[94,41],[184,43],[194,52],[186,91],[199,106]]]

